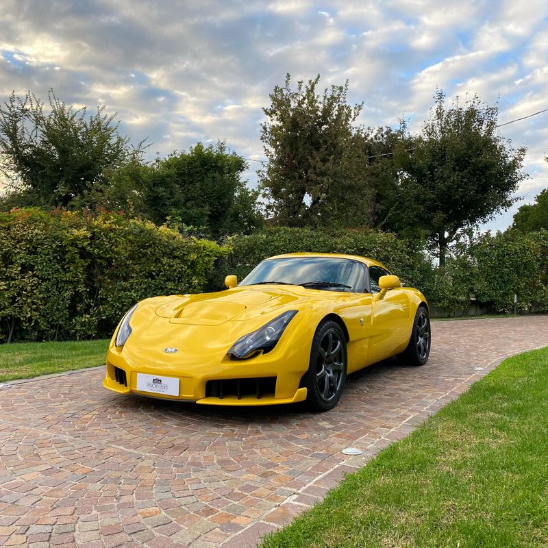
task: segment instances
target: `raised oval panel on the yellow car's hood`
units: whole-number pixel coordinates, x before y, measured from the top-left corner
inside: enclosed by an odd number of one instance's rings
[[[158,307],[156,314],[171,323],[186,325],[221,325],[250,308],[277,297],[277,293],[234,289],[178,297]]]

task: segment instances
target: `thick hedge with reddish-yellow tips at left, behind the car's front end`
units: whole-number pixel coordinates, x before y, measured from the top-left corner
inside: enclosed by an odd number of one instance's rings
[[[203,290],[226,253],[112,213],[0,214],[0,341],[110,336],[140,299]]]

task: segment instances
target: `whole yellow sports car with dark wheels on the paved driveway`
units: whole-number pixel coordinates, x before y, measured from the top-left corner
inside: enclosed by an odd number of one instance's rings
[[[225,406],[306,401],[326,411],[348,373],[390,356],[428,359],[424,295],[374,260],[289,253],[225,285],[136,304],[112,336],[103,386]]]

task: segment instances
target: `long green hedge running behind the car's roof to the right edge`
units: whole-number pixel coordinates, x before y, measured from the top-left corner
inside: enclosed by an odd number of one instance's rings
[[[281,253],[349,253],[378,260],[402,281],[419,288],[428,301],[451,316],[473,299],[490,312],[512,312],[514,294],[521,312],[548,312],[548,232],[479,234],[453,249],[445,268],[434,266],[421,242],[388,232],[270,227],[232,236],[208,288],[223,287],[226,274],[245,277],[261,260]]]

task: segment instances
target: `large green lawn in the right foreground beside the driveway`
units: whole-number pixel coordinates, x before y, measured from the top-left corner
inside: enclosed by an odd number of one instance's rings
[[[515,356],[264,548],[548,546],[548,348]]]

